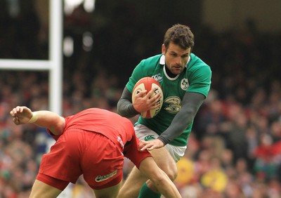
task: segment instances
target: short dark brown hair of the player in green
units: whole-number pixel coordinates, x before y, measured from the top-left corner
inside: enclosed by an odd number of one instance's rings
[[[164,46],[169,47],[170,42],[181,46],[183,49],[193,48],[194,35],[190,27],[186,25],[176,24],[170,27],[164,35]]]

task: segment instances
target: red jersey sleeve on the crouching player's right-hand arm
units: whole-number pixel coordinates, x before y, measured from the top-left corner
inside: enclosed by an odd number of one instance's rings
[[[136,136],[133,136],[131,141],[126,143],[123,153],[124,156],[130,159],[133,164],[135,164],[136,167],[139,169],[141,161],[143,161],[143,159],[145,159],[146,157],[151,157],[151,154],[150,152],[148,152],[148,150],[139,151],[138,143],[138,138],[136,138]]]

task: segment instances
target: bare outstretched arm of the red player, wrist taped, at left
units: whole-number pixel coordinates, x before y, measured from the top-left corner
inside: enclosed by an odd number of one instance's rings
[[[25,106],[17,106],[10,112],[13,123],[16,125],[33,123],[48,128],[54,135],[59,136],[65,128],[65,119],[55,112],[37,111],[32,112]]]

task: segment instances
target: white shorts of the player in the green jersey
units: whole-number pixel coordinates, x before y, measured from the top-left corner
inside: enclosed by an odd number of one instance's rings
[[[134,128],[136,131],[136,136],[140,140],[145,140],[145,141],[154,140],[154,139],[158,138],[158,136],[159,136],[157,133],[152,131],[150,128],[148,128],[147,126],[144,126],[142,124],[137,124],[136,126],[134,126]],[[169,151],[169,153],[171,154],[171,157],[173,157],[173,159],[176,162],[178,162],[178,160],[180,160],[181,157],[183,157],[183,155],[185,154],[185,150],[186,150],[187,146],[179,147],[179,146],[175,146],[175,145],[166,144],[165,148],[166,148],[166,150]]]

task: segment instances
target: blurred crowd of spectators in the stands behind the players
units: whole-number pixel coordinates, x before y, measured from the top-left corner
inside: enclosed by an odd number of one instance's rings
[[[178,162],[175,183],[184,198],[281,197],[280,46],[281,33],[259,32],[251,20],[231,32],[217,34],[209,27],[195,32],[194,53],[211,66],[213,77]],[[89,58],[80,53],[64,60],[63,116],[89,107],[116,112],[123,77],[129,79],[136,66],[112,70],[114,65],[105,67],[97,59],[87,66]],[[48,72],[0,73],[0,198],[28,196],[41,156],[53,143],[44,128],[15,126],[9,116],[17,105],[48,110],[48,80]],[[131,168],[126,160],[124,178]],[[68,193],[93,196],[83,178]]]

